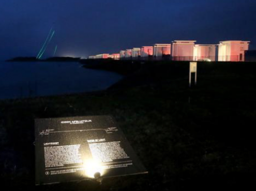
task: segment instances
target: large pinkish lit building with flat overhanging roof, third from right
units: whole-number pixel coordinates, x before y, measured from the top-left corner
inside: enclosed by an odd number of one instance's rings
[[[197,41],[173,41],[172,42],[173,60],[178,60],[178,61],[193,60],[195,42]]]

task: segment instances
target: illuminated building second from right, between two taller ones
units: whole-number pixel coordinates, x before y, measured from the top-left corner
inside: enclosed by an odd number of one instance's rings
[[[194,45],[194,61],[215,61],[215,44],[196,44]]]

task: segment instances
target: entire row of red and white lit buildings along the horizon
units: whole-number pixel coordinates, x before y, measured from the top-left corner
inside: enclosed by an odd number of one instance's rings
[[[163,59],[175,61],[245,61],[249,41],[222,41],[219,44],[195,44],[197,41],[173,41],[121,50],[116,54],[89,56],[89,59]]]

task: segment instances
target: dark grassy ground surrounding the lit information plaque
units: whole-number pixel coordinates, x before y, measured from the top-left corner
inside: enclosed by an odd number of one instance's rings
[[[256,63],[152,63],[108,91],[0,101],[6,190],[254,190]],[[34,119],[113,115],[148,175],[34,186]]]

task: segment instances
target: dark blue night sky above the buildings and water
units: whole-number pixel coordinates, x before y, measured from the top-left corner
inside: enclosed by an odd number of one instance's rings
[[[197,40],[251,41],[255,0],[0,0],[0,59],[36,56],[51,27],[46,54],[87,57],[121,49]]]

